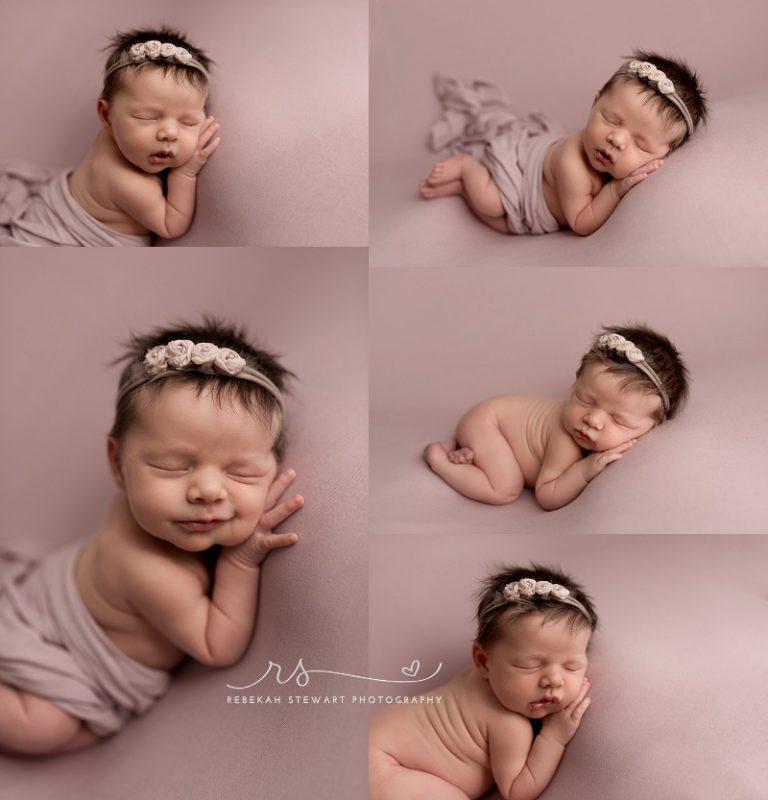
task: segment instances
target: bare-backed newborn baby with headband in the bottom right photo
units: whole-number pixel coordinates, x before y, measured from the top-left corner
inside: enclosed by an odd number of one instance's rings
[[[372,717],[371,800],[474,800],[494,783],[505,800],[538,797],[590,704],[596,627],[590,598],[567,575],[533,564],[489,577],[472,666],[430,692],[440,703]]]

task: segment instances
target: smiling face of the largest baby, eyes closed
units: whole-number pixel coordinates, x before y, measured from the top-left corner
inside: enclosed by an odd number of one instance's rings
[[[220,406],[207,392],[168,383],[109,452],[139,527],[197,552],[253,533],[277,472],[274,441],[236,401]]]

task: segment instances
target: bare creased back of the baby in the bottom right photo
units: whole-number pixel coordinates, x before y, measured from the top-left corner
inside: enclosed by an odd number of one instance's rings
[[[372,717],[372,749],[480,797],[493,785],[486,726],[498,702],[474,669],[420,697],[433,702],[392,706]]]

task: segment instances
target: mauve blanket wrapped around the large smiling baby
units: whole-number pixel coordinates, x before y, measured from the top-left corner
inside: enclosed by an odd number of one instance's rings
[[[108,736],[165,692],[170,676],[129,658],[75,585],[82,541],[39,563],[0,553],[0,682],[45,697]]]

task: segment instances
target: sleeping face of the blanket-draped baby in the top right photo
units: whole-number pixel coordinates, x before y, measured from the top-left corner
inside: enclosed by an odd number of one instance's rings
[[[582,131],[590,166],[621,180],[655,158],[664,158],[683,131],[669,128],[634,83],[619,82],[599,97]]]

